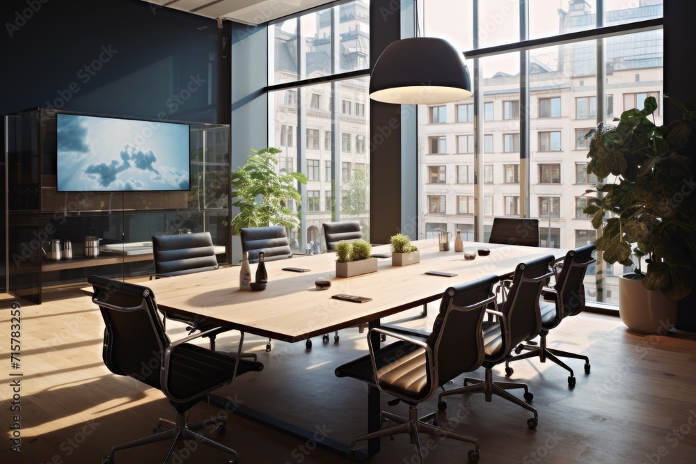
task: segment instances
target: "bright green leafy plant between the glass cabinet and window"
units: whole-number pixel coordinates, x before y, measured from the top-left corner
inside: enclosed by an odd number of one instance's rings
[[[296,182],[306,184],[307,176],[283,168],[278,170],[280,150],[277,148],[251,151],[253,156],[231,175],[232,196],[237,199],[232,206],[239,208],[239,214],[232,218],[232,235],[239,235],[242,227],[297,227],[299,221],[287,200],[301,202]]]

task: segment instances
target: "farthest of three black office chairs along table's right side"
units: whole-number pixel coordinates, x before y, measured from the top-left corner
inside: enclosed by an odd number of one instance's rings
[[[555,285],[552,289],[541,291],[541,302],[539,310],[541,312],[541,332],[539,332],[539,346],[532,344],[519,344],[515,353],[516,356],[505,361],[505,374],[512,376],[513,369],[509,367],[509,362],[539,357],[541,362],[546,362],[546,358],[552,360],[557,365],[564,367],[570,372],[568,385],[573,387],[576,378],[573,369],[557,358],[574,358],[585,360],[585,374],[590,374],[590,358],[585,355],[569,353],[546,346],[546,335],[548,331],[557,327],[563,319],[569,316],[576,316],[585,309],[585,272],[595,259],[592,257],[594,243],[586,245],[576,250],[570,250],[564,257],[557,259],[553,265],[555,275]],[[522,353],[523,350],[528,350]],[[522,354],[520,354],[522,353]]]

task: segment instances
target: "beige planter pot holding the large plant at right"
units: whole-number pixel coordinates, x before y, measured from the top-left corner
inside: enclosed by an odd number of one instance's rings
[[[665,335],[677,321],[677,301],[648,290],[640,279],[619,277],[619,316],[633,332]]]

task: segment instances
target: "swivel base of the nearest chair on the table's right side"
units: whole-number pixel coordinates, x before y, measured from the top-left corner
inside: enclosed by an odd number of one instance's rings
[[[420,463],[424,463],[422,451],[420,449],[420,439],[418,438],[418,433],[429,433],[431,435],[437,435],[438,437],[453,438],[454,440],[461,440],[464,442],[473,443],[474,449],[470,449],[468,452],[468,458],[471,462],[476,463],[480,458],[479,441],[476,438],[470,437],[468,435],[463,435],[461,433],[456,433],[447,429],[442,429],[438,427],[437,419],[435,413],[431,413],[425,417],[418,418],[418,408],[416,406],[409,406],[409,417],[401,417],[392,413],[382,412],[382,420],[394,422],[395,425],[388,426],[384,429],[365,433],[364,435],[359,435],[353,438],[350,442],[350,449],[348,451],[348,457],[354,458],[356,454],[355,444],[363,440],[370,440],[372,438],[381,438],[386,436],[396,435],[397,433],[408,433],[411,438],[411,443],[416,445],[418,450],[418,457],[420,458]],[[430,424],[432,421],[433,424]]]

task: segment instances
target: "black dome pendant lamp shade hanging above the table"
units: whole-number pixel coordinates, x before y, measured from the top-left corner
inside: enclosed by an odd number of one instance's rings
[[[370,74],[370,98],[397,104],[457,102],[471,96],[464,56],[441,38],[390,43]]]

